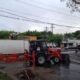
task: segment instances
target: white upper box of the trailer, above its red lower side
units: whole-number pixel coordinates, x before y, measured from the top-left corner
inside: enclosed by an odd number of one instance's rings
[[[29,51],[29,45],[27,40],[0,40],[0,54],[24,53],[24,49]]]

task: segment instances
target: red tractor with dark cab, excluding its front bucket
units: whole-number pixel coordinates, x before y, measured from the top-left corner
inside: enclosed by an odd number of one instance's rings
[[[30,42],[30,55],[35,51],[36,63],[43,65],[46,62],[59,63],[62,60],[62,54],[58,50],[53,50],[47,46],[46,40],[36,40]]]

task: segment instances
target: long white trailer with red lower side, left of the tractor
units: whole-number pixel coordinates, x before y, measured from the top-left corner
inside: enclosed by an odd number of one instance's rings
[[[0,40],[0,61],[12,62],[21,60],[24,50],[29,51],[29,45],[27,40]]]

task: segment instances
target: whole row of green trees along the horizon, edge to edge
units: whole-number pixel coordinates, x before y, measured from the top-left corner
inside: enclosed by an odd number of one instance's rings
[[[0,31],[0,39],[9,39],[11,33],[17,33],[14,31]],[[63,39],[80,39],[80,30],[73,33],[52,34],[52,32],[38,32],[38,31],[26,31],[19,33],[18,36],[37,36],[38,39],[45,39],[50,42],[60,43]]]

